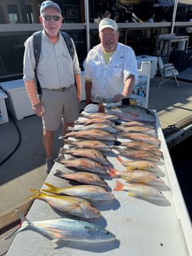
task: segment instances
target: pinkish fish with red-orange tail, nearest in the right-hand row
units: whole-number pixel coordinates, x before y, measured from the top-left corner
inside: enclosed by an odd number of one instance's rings
[[[117,185],[114,190],[128,191],[130,197],[136,197],[138,199],[149,201],[158,206],[170,206],[167,198],[161,191],[155,187],[148,186],[146,184],[122,184],[120,181],[116,181]]]

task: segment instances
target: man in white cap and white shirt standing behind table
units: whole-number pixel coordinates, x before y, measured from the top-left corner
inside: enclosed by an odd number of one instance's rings
[[[129,98],[138,78],[136,56],[130,46],[119,43],[117,23],[101,20],[99,38],[85,61],[86,104],[101,103],[106,98],[114,102]]]

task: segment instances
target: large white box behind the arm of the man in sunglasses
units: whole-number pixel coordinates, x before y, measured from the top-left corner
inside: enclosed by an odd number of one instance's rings
[[[2,82],[0,86],[8,94],[8,109],[17,120],[34,114],[23,79]]]

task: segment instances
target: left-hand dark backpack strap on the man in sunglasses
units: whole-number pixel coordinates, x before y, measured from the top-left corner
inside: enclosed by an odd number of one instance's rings
[[[40,50],[41,50],[41,34],[42,31],[37,31],[33,35],[33,46],[34,46],[34,58],[35,58],[35,78],[36,78],[36,86],[37,86],[37,93],[42,94],[41,88],[40,88],[40,82],[37,77],[37,65],[40,59]]]

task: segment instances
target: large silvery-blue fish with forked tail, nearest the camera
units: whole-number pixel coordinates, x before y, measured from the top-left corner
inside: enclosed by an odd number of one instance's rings
[[[116,236],[101,226],[91,222],[85,222],[77,219],[45,219],[30,222],[22,213],[16,210],[21,219],[20,228],[9,235],[12,235],[30,228],[38,232],[46,238],[50,238],[53,242],[59,240],[85,243],[110,242],[116,239]]]

